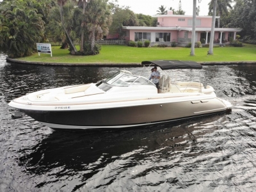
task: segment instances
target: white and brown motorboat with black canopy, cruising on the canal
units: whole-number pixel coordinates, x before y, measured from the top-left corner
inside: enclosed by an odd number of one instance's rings
[[[201,69],[193,61],[143,61],[163,71]],[[147,78],[121,70],[98,83],[65,86],[29,93],[10,102],[13,108],[54,129],[122,128],[159,124],[230,111],[227,100],[212,86],[159,79],[159,93]]]

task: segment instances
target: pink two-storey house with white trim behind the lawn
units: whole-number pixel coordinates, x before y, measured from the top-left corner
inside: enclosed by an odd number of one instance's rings
[[[152,44],[164,42],[178,42],[179,44],[191,42],[193,16],[173,15],[168,11],[167,15],[154,15],[157,17],[156,27],[129,27],[124,26],[126,31],[125,39],[135,42],[150,40]],[[218,19],[219,16],[216,16]],[[211,16],[196,16],[196,39],[195,42],[209,43],[211,36]],[[215,28],[214,43],[223,44],[232,37],[236,39],[236,33],[241,31],[238,28]]]

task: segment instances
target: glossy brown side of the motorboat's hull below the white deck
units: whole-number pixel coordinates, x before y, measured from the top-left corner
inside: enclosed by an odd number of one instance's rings
[[[186,100],[120,108],[75,111],[33,111],[23,109],[22,111],[53,129],[95,129],[158,124],[194,116],[220,113],[230,109],[231,107],[227,107],[227,103],[225,104],[223,100],[215,97],[207,100]]]

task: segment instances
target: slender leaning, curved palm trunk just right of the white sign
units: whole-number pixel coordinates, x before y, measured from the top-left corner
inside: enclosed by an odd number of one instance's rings
[[[60,19],[61,19],[61,25],[62,25],[62,28],[63,30],[65,31],[65,35],[67,36],[67,41],[68,41],[68,45],[69,45],[69,48],[70,48],[70,52],[71,54],[76,54],[77,53],[77,50],[76,50],[76,47],[66,29],[66,26],[65,26],[65,22],[64,22],[64,16],[63,16],[63,5],[65,3],[67,3],[68,0],[57,0],[58,2],[58,5],[60,6]]]

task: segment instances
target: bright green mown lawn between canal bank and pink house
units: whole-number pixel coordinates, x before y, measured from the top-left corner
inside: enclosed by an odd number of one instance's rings
[[[79,50],[79,47],[77,47]],[[209,48],[196,48],[195,56],[190,56],[186,47],[128,47],[126,45],[102,45],[100,54],[95,56],[71,56],[68,50],[60,46],[52,47],[50,54],[37,53],[24,61],[47,63],[141,63],[144,60],[191,60],[198,62],[211,61],[256,61],[256,45],[245,44],[244,47],[214,47],[214,54],[207,56]]]

